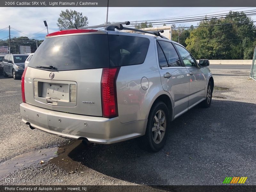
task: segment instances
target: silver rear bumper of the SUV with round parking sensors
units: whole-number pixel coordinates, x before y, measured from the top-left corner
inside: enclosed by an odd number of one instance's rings
[[[35,107],[28,103],[20,104],[20,113],[22,121],[29,122],[36,129],[70,139],[86,138],[90,142],[102,144],[144,135],[148,121],[138,120],[123,124],[119,117],[108,119],[69,114]]]

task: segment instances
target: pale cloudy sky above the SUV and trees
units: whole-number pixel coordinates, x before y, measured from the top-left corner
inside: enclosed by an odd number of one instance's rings
[[[108,21],[151,20],[210,12],[224,13],[220,11],[228,10],[246,11],[253,9],[241,8],[243,7],[109,7]],[[47,30],[43,21],[47,21],[49,33],[58,31],[56,25],[57,19],[60,12],[66,9],[82,12],[84,16],[88,17],[89,25],[91,26],[106,22],[106,7],[0,7],[0,39],[6,39],[7,36],[9,36],[8,28],[1,30],[9,25],[11,26],[11,37],[26,36],[25,34],[27,34],[29,38],[35,37],[37,39],[44,39],[44,37],[41,36],[45,36]],[[252,16],[252,19],[256,20],[256,16]],[[185,25],[184,23],[181,24]],[[187,26],[191,24],[196,26],[196,22],[188,23]],[[179,26],[179,24],[176,24],[176,26]]]

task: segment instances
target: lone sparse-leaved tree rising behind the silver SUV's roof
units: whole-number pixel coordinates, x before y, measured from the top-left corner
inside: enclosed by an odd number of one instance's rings
[[[75,28],[76,27],[84,27],[88,25],[88,18],[83,16],[81,12],[77,12],[75,10],[68,10],[61,11],[60,17],[58,18],[57,26],[60,30],[68,29],[68,28]]]

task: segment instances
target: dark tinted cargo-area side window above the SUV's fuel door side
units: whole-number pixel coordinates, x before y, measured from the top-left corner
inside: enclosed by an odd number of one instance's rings
[[[144,62],[149,46],[146,37],[108,35],[110,67],[137,65]]]

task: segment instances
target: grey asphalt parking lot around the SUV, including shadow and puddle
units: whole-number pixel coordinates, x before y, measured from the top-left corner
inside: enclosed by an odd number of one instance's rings
[[[0,185],[31,184],[6,178],[46,185],[220,185],[227,176],[256,185],[256,81],[250,69],[211,70],[211,107],[175,119],[158,153],[143,151],[136,139],[85,146],[31,130],[21,122],[20,80],[0,76]]]

